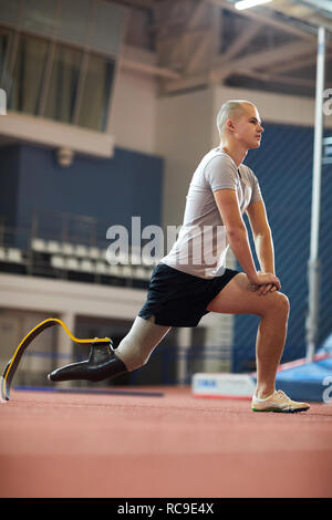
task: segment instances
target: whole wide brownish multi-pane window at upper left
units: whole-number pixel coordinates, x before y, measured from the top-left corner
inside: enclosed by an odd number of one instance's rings
[[[115,60],[85,52],[0,28],[8,110],[105,132]]]

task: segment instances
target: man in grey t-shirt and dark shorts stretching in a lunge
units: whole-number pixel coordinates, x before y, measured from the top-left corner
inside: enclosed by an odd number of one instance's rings
[[[256,342],[255,412],[302,412],[274,388],[282,355],[288,298],[274,272],[271,229],[259,183],[242,163],[260,146],[263,128],[257,107],[225,103],[217,117],[220,145],[205,155],[189,186],[184,223],[172,250],[155,268],[147,299],[116,350],[91,347],[90,357],[55,370],[51,381],[102,381],[147,363],[172,326],[196,326],[208,312],[260,316]],[[260,264],[256,270],[242,215],[247,211]],[[230,246],[243,272],[225,268]]]

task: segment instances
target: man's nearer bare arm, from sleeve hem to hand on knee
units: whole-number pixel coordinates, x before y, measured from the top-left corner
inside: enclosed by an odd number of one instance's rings
[[[280,289],[280,282],[273,275],[273,271],[258,273],[256,270],[236,191],[234,189],[218,189],[214,191],[214,196],[226,227],[228,242],[250,282],[253,285],[274,283]]]

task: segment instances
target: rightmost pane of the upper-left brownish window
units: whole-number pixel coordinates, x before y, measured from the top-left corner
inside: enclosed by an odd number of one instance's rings
[[[90,55],[77,124],[103,132],[112,94],[114,61]]]

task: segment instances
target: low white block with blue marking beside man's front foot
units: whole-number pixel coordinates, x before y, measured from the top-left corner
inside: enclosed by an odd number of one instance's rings
[[[251,399],[256,379],[250,374],[194,374],[191,392],[194,397],[225,399]]]

